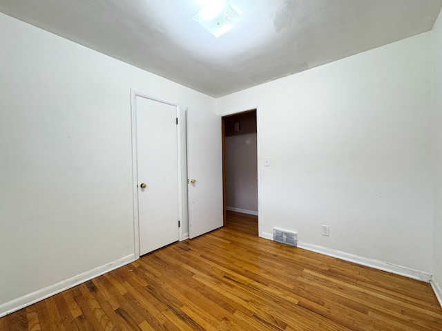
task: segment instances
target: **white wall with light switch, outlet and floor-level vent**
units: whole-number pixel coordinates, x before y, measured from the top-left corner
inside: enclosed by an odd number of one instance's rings
[[[307,248],[430,272],[430,37],[217,99],[219,114],[260,104],[263,237],[294,230]]]

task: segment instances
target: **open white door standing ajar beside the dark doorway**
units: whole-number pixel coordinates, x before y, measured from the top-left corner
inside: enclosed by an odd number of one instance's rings
[[[189,238],[222,227],[221,117],[187,113]]]

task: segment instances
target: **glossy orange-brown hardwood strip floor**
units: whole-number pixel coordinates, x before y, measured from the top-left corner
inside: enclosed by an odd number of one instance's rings
[[[442,330],[429,284],[257,237],[174,243],[0,319],[0,330]]]

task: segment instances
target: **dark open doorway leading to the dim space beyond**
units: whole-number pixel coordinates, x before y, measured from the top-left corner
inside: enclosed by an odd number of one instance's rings
[[[257,132],[256,109],[222,117],[224,225],[238,217],[258,224]]]

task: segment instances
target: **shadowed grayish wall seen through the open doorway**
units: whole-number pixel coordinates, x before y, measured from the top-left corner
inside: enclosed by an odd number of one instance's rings
[[[258,213],[256,163],[256,133],[225,138],[227,208]]]

